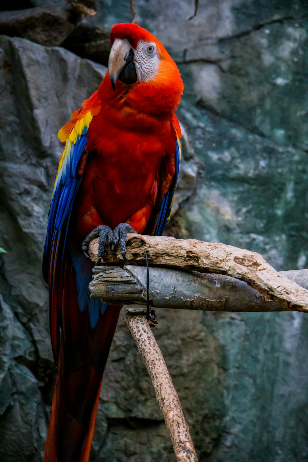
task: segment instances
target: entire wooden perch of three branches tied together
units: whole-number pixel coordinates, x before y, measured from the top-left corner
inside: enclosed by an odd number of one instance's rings
[[[121,267],[123,260],[119,252],[114,255],[106,245],[102,264],[109,266],[94,267],[94,279],[89,286],[91,295],[110,304],[135,303],[127,307],[129,313],[124,316],[124,321],[151,376],[176,460],[197,462],[181,403],[163,355],[145,315],[136,314],[138,304],[144,304],[147,297],[146,251],[151,265],[149,295],[152,307],[308,311],[308,290],[302,287],[308,287],[308,270],[278,273],[261,255],[221,243],[135,234],[127,237],[130,264]],[[97,251],[98,239],[94,239],[89,246],[92,261],[97,262]]]

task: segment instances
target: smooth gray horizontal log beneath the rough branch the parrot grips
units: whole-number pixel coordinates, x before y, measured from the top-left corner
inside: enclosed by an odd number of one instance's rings
[[[146,268],[141,266],[95,266],[89,285],[92,297],[122,305],[146,303]],[[308,269],[281,273],[308,288]],[[213,311],[289,311],[244,281],[221,274],[188,273],[150,267],[150,300],[153,308]]]

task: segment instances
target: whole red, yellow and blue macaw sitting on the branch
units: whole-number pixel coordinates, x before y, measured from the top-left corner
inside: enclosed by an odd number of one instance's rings
[[[183,82],[157,38],[138,24],[115,24],[108,71],[72,113],[50,203],[43,253],[49,325],[57,366],[44,462],[87,462],[103,371],[121,306],[90,297],[88,246],[119,246],[127,232],[161,236],[179,176],[175,116]]]

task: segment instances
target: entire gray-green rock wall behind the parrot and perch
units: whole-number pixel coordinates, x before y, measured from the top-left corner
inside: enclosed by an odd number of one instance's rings
[[[135,1],[185,84],[184,161],[166,232],[260,252],[278,270],[307,267],[307,3],[200,0],[188,21],[193,8]],[[103,78],[111,26],[132,16],[128,0],[2,0],[0,9],[0,460],[41,462],[55,380],[41,258],[57,131]],[[157,314],[200,462],[308,460],[306,315]],[[121,319],[91,461],[175,461]]]

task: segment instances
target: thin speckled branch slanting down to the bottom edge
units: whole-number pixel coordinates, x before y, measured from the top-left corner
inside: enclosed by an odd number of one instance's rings
[[[193,441],[162,352],[145,316],[124,316],[151,377],[156,398],[168,428],[177,462],[197,462]]]

